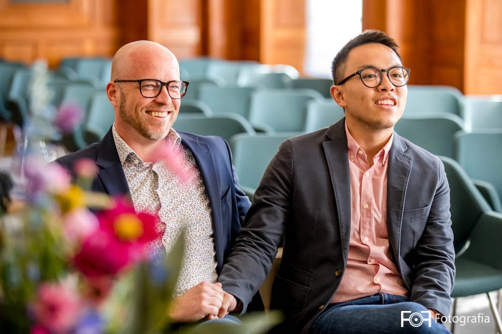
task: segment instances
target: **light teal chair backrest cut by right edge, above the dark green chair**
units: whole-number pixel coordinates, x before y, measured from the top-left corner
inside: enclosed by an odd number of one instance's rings
[[[502,130],[459,132],[454,149],[467,175],[491,183],[502,198]]]

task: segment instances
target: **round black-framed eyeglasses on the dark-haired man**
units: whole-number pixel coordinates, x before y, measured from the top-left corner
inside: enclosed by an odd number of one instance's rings
[[[408,83],[408,80],[410,80],[410,71],[411,71],[410,69],[401,66],[394,66],[387,70],[386,69],[379,70],[372,67],[368,67],[349,75],[348,77],[340,81],[337,84],[337,86],[343,85],[350,78],[359,75],[364,86],[369,88],[375,88],[380,86],[380,84],[382,83],[382,79],[384,77],[384,74],[382,72],[385,72],[387,73],[387,78],[389,78],[389,80],[394,86],[402,87]]]

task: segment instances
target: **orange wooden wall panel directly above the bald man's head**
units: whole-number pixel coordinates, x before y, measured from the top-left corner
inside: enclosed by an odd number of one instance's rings
[[[176,57],[202,54],[202,0],[148,0],[147,39]]]

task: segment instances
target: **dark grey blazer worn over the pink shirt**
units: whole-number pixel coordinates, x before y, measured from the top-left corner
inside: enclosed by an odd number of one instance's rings
[[[345,119],[286,140],[272,159],[219,281],[245,307],[271,269],[284,234],[271,307],[308,332],[340,284],[350,239]],[[438,157],[394,134],[387,227],[411,301],[447,315],[455,275],[450,194]]]

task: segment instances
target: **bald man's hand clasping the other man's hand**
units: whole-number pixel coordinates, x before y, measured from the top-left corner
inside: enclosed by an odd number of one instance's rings
[[[167,315],[176,322],[193,322],[205,316],[212,319],[222,306],[223,293],[226,292],[221,288],[221,283],[202,281],[174,298]]]

